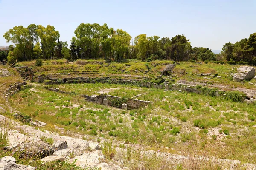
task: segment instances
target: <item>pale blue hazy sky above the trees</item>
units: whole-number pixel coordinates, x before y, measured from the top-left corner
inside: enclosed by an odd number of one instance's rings
[[[256,32],[256,0],[0,0],[0,46],[14,26],[55,27],[70,43],[80,23],[107,23],[133,38],[184,34],[192,47],[221,50]]]

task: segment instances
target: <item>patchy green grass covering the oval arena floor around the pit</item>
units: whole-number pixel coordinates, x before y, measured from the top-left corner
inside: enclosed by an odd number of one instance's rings
[[[143,88],[128,85],[125,86],[125,89],[118,85],[99,83],[60,86],[63,90],[72,89],[71,87],[73,90],[80,91],[80,94],[81,92],[90,93],[90,89],[101,91],[101,88],[109,87],[120,88],[127,94],[131,91],[129,88],[133,88],[134,91],[143,91]],[[34,119],[46,122],[48,125],[57,125],[75,133],[104,136],[106,139],[114,138],[117,141],[138,143],[152,148],[171,147],[175,148],[175,152],[180,150],[179,148],[184,142],[189,143],[194,140],[204,142],[204,139],[207,138],[203,138],[202,135],[209,136],[209,139],[213,139],[212,141],[216,144],[224,142],[223,147],[228,147],[230,150],[238,147],[238,140],[250,139],[252,143],[243,147],[244,153],[248,153],[248,147],[254,150],[251,146],[256,145],[253,137],[256,122],[251,120],[251,116],[256,116],[255,105],[230,102],[200,94],[165,92],[149,88],[147,94],[138,99],[152,101],[153,105],[126,112],[84,102],[79,95],[59,94],[47,91],[41,86],[36,86],[35,89],[37,92],[25,89],[15,94],[10,98],[11,105],[27,115],[32,116],[37,113],[34,115]],[[22,96],[25,97],[22,98]],[[243,131],[244,127],[252,130]],[[50,127],[45,128],[47,130]],[[214,133],[214,129],[217,133]],[[218,132],[220,129],[223,129],[221,134]],[[224,133],[225,129],[229,131],[228,135],[225,134],[226,131]],[[235,134],[240,138],[236,138]],[[224,139],[220,141],[220,139],[212,137],[213,135],[222,135]],[[235,142],[231,145],[231,141]],[[226,159],[234,159],[230,155],[217,155]],[[241,154],[236,156],[236,159],[244,162],[253,162],[254,160]]]

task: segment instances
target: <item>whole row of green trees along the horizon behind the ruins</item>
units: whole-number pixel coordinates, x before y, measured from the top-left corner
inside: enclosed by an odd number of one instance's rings
[[[102,26],[81,23],[74,31],[70,46],[59,40],[59,31],[54,26],[47,27],[31,24],[27,28],[15,26],[3,37],[12,42],[7,56],[8,62],[32,59],[106,59],[122,61],[124,59],[155,60],[168,59],[173,61],[188,60],[227,60],[235,59],[250,61],[256,56],[256,33],[249,39],[235,44],[226,43],[221,54],[216,55],[209,48],[190,45],[185,35],[175,37],[151,36],[140,34],[132,37],[122,29],[114,30],[107,24]],[[254,35],[254,37],[253,37]],[[231,45],[230,45],[231,44]],[[236,47],[236,48],[235,48]]]

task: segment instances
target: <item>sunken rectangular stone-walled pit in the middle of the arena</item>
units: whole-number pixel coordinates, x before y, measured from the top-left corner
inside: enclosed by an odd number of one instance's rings
[[[83,97],[89,102],[94,102],[94,103],[98,103],[98,104],[105,104],[105,105],[106,105],[107,102],[105,101],[105,103],[103,103],[103,100],[108,99],[108,105],[109,106],[114,106],[114,107],[119,107],[119,108],[122,108],[122,104],[123,104],[123,103],[121,103],[121,105],[119,105],[119,106],[113,105],[112,101],[114,99],[121,99],[121,97],[117,97],[117,96],[111,96],[111,95],[87,96],[87,95],[83,95]],[[149,104],[152,104],[152,102],[125,98],[125,104],[127,104],[128,109],[138,109],[138,108],[144,108],[145,106],[147,106]]]

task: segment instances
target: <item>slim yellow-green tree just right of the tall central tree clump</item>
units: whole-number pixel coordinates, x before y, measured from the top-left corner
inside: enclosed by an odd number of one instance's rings
[[[140,34],[134,39],[135,48],[137,48],[139,58],[141,60],[146,59],[146,53],[147,53],[147,35],[146,34]]]

